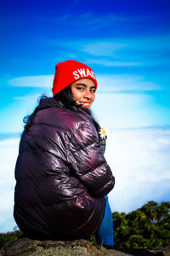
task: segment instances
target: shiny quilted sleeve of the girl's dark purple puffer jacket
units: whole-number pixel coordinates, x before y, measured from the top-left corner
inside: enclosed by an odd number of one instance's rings
[[[69,151],[71,168],[88,192],[95,197],[107,195],[114,187],[115,178],[99,146],[93,124],[86,122],[79,126],[71,139]]]

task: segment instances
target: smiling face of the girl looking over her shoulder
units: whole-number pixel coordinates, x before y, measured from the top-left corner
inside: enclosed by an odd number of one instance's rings
[[[95,99],[95,84],[91,79],[80,79],[71,84],[72,96],[77,105],[90,108]]]

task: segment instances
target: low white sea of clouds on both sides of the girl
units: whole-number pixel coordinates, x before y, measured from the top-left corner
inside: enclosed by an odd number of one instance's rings
[[[0,141],[1,232],[15,226],[14,166],[18,146],[19,138]],[[130,212],[150,200],[170,201],[169,152],[170,130],[112,129],[105,152],[116,177],[115,188],[109,195],[112,211]]]

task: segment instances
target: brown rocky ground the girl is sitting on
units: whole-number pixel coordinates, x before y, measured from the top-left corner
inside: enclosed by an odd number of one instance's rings
[[[21,238],[8,243],[0,250],[0,256],[170,256],[170,247],[157,248],[156,250],[129,249],[118,250],[114,247],[92,246],[87,240],[75,241],[37,241]]]

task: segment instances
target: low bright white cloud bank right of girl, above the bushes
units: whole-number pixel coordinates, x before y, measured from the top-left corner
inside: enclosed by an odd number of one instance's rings
[[[150,200],[170,200],[169,131],[112,131],[105,153],[116,177],[112,211],[130,212]]]

